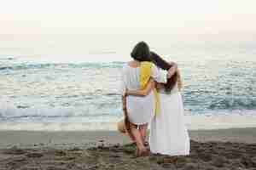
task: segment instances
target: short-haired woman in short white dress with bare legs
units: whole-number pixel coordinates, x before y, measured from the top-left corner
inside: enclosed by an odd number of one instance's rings
[[[144,138],[147,132],[148,122],[154,116],[154,93],[148,92],[147,96],[125,96],[126,89],[140,89],[140,62],[150,60],[150,51],[145,42],[139,42],[131,53],[132,61],[124,65],[121,78],[121,94],[123,101],[123,111],[125,114],[126,128],[131,132],[130,136],[136,141],[137,156],[147,153],[144,146]],[[175,70],[160,71],[155,65],[151,67],[151,77],[155,82],[167,82],[167,78],[172,77]]]

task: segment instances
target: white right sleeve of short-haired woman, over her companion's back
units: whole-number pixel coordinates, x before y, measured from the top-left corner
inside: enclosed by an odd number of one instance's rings
[[[157,68],[154,64],[151,68],[151,77],[155,82],[166,83],[167,82],[167,71]]]

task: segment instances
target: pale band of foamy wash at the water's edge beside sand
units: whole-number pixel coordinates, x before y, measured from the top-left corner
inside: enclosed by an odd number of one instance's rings
[[[86,120],[73,120],[71,122],[8,122],[0,119],[0,131],[115,131],[116,117],[110,122],[86,122]],[[185,115],[184,122],[189,130],[218,130],[228,128],[256,127],[256,115],[247,114],[220,114],[220,115]]]

